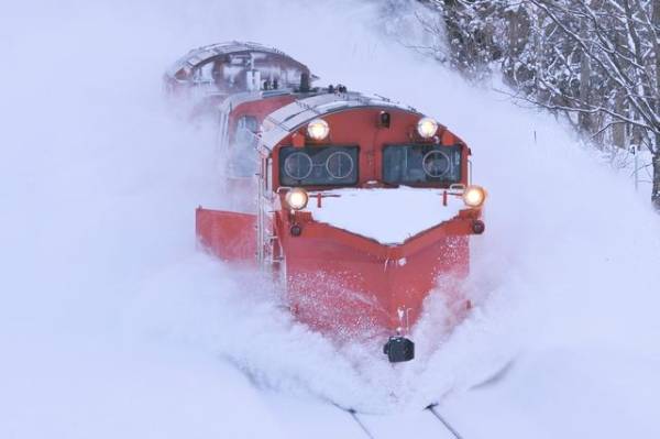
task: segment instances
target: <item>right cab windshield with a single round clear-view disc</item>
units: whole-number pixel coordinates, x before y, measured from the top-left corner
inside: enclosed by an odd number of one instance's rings
[[[393,185],[451,185],[461,182],[461,146],[388,145],[383,182]]]

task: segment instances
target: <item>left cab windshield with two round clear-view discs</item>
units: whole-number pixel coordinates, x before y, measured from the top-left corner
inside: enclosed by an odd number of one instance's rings
[[[279,150],[283,186],[358,184],[358,146],[284,146]]]

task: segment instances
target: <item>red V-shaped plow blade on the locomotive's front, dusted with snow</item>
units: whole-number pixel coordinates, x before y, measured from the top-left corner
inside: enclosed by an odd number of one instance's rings
[[[473,218],[459,216],[400,244],[383,244],[299,218],[300,235],[283,233],[287,294],[301,321],[353,337],[395,334],[417,321],[438,276],[464,277]],[[450,304],[469,301],[443,289]]]

